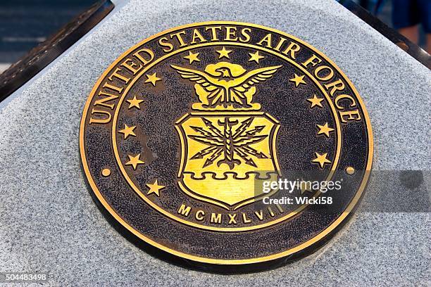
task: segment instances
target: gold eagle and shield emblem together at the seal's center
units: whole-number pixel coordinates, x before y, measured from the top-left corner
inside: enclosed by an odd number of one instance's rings
[[[204,71],[170,66],[194,83],[199,100],[192,103],[194,112],[175,124],[182,143],[177,174],[182,191],[227,210],[260,198],[259,183],[281,175],[275,148],[280,123],[263,113],[253,97],[256,85],[282,66],[249,72],[227,62]]]

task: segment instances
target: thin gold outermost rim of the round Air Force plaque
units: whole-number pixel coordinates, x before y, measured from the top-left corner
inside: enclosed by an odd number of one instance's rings
[[[347,206],[346,210],[344,210],[344,212],[342,212],[342,214],[334,221],[332,222],[332,224],[330,224],[330,226],[328,226],[326,229],[324,229],[323,231],[321,231],[319,234],[317,234],[315,237],[311,238],[310,240],[301,243],[299,245],[296,245],[294,248],[290,248],[288,250],[282,251],[281,253],[275,253],[273,255],[268,255],[268,256],[263,256],[263,257],[254,257],[254,258],[248,258],[248,259],[239,259],[239,260],[227,260],[227,259],[215,259],[215,258],[208,258],[208,257],[200,257],[200,256],[196,256],[196,255],[191,255],[188,253],[182,253],[180,251],[174,250],[172,248],[169,248],[168,246],[162,245],[161,243],[158,243],[156,241],[153,241],[151,238],[146,237],[144,234],[141,234],[139,231],[137,231],[136,229],[134,229],[130,224],[127,224],[127,222],[125,222],[125,220],[118,215],[117,212],[115,212],[115,210],[113,210],[113,208],[111,208],[111,205],[109,205],[107,203],[107,201],[105,200],[104,196],[101,194],[101,192],[99,191],[98,187],[96,186],[94,180],[92,179],[92,174],[89,171],[89,167],[87,164],[87,156],[85,155],[85,142],[84,142],[84,135],[85,135],[85,121],[87,118],[87,112],[89,110],[89,106],[92,102],[92,98],[96,92],[96,90],[98,89],[99,85],[101,84],[101,82],[103,81],[104,77],[106,77],[106,75],[108,74],[109,71],[111,71],[115,65],[117,65],[120,60],[122,60],[125,56],[128,55],[128,53],[130,53],[131,51],[133,51],[134,49],[137,49],[139,46],[141,46],[142,44],[151,41],[152,39],[155,39],[156,37],[159,37],[163,34],[166,34],[168,32],[173,32],[175,30],[179,30],[179,29],[185,29],[188,27],[194,27],[194,26],[199,26],[199,25],[244,25],[244,26],[249,26],[249,27],[255,27],[255,28],[259,28],[259,29],[263,29],[266,31],[270,31],[270,32],[275,32],[278,34],[282,34],[285,37],[289,37],[291,39],[294,39],[296,42],[299,42],[300,44],[303,44],[304,46],[306,46],[308,49],[313,50],[313,52],[315,52],[316,54],[318,54],[318,56],[321,56],[322,58],[324,58],[325,60],[327,60],[328,63],[330,63],[333,68],[335,68],[335,70],[337,70],[337,72],[340,73],[340,75],[343,76],[344,80],[346,81],[347,84],[349,84],[349,87],[351,87],[352,91],[354,92],[359,105],[361,106],[361,110],[363,112],[364,118],[365,118],[365,122],[366,122],[366,127],[367,127],[367,136],[368,136],[368,158],[367,158],[367,164],[366,164],[366,169],[365,169],[365,174],[364,177],[361,181],[361,185],[359,186],[358,191],[356,192],[354,198],[351,200],[351,202],[349,203],[349,205]],[[310,44],[302,41],[301,39],[298,39],[290,34],[287,34],[285,32],[281,32],[279,30],[270,28],[270,27],[265,27],[263,25],[256,25],[256,24],[251,24],[251,23],[244,23],[244,22],[235,22],[235,21],[206,21],[206,22],[199,22],[199,23],[192,23],[192,24],[187,24],[187,25],[180,25],[177,27],[173,27],[171,29],[168,30],[164,30],[162,32],[158,32],[157,34],[152,35],[151,37],[148,37],[146,39],[144,39],[143,41],[139,42],[138,44],[136,44],[135,46],[132,46],[130,49],[128,49],[127,51],[125,51],[124,53],[122,53],[113,63],[111,63],[111,65],[109,65],[109,67],[104,71],[104,73],[101,75],[101,77],[99,77],[99,79],[97,80],[96,84],[94,84],[94,87],[92,89],[92,91],[89,94],[89,98],[87,98],[87,101],[85,103],[85,108],[83,110],[82,113],[82,117],[81,117],[81,122],[80,122],[80,155],[81,155],[81,160],[82,160],[82,167],[85,171],[85,175],[87,177],[88,183],[92,188],[92,191],[94,192],[94,195],[96,196],[96,198],[99,200],[99,202],[101,203],[101,205],[104,206],[104,208],[106,209],[106,211],[109,212],[109,214],[119,223],[121,224],[123,227],[125,227],[125,229],[127,229],[128,231],[130,231],[132,234],[134,234],[135,236],[137,236],[138,238],[140,238],[142,241],[149,243],[150,245],[153,245],[156,248],[159,248],[167,253],[170,253],[172,255],[178,256],[178,257],[183,257],[189,260],[194,260],[196,262],[204,262],[204,263],[208,263],[208,264],[254,264],[254,263],[259,263],[259,262],[266,262],[266,261],[270,261],[270,260],[276,260],[282,257],[286,257],[288,255],[292,255],[294,253],[298,253],[301,250],[304,250],[305,248],[310,247],[311,245],[318,243],[318,241],[322,240],[323,238],[325,238],[326,236],[330,235],[332,231],[334,231],[339,224],[342,224],[342,222],[344,222],[344,219],[346,219],[346,217],[348,217],[348,215],[350,214],[350,212],[352,210],[354,210],[354,207],[356,205],[356,203],[358,203],[358,200],[361,198],[362,193],[364,191],[364,189],[366,188],[366,184],[368,182],[368,178],[370,176],[370,171],[371,171],[371,167],[373,164],[373,151],[374,151],[374,145],[373,145],[373,132],[371,129],[371,123],[370,123],[370,117],[368,116],[368,112],[365,108],[365,105],[362,101],[361,96],[359,96],[358,91],[356,90],[356,88],[354,87],[353,83],[350,81],[350,79],[348,77],[346,77],[346,75],[344,75],[344,72],[342,72],[342,70],[340,70],[338,68],[337,65],[335,65],[335,63],[332,62],[332,60],[330,60],[329,58],[327,58],[327,56],[325,56],[322,52],[320,52],[318,49],[314,48],[313,46],[311,46]]]

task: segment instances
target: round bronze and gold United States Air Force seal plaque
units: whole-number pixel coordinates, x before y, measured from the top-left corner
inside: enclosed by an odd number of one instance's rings
[[[268,267],[345,222],[373,137],[323,53],[268,27],[207,22],[115,60],[85,105],[80,153],[96,203],[139,245],[207,269]]]

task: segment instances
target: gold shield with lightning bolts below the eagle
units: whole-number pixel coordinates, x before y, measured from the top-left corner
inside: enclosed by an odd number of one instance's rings
[[[175,123],[181,142],[180,189],[235,210],[270,193],[280,177],[275,148],[280,124],[261,112],[188,113]]]

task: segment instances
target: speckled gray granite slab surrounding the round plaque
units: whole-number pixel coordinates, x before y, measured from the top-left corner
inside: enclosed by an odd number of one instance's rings
[[[186,23],[244,21],[310,43],[337,63],[365,101],[374,169],[431,167],[430,70],[335,1],[120,4],[0,106],[0,271],[49,272],[52,286],[430,286],[426,212],[360,212],[317,253],[235,276],[176,267],[118,234],[93,203],[81,172],[82,108],[96,79],[123,51]]]

